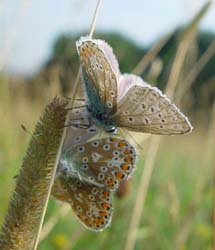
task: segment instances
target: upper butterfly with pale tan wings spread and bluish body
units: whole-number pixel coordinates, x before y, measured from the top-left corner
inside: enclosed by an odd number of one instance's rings
[[[107,132],[117,127],[160,135],[192,130],[188,118],[158,88],[140,77],[121,74],[112,48],[103,40],[76,42],[88,96],[88,110]]]

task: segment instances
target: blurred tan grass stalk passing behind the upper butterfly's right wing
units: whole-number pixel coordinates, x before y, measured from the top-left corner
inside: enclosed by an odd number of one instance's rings
[[[196,15],[196,17],[194,17],[194,19],[191,21],[191,23],[182,33],[181,42],[176,52],[176,56],[174,58],[173,66],[172,66],[169,79],[168,79],[168,83],[166,86],[165,93],[170,98],[173,98],[174,92],[179,82],[180,72],[181,72],[181,69],[185,60],[186,53],[189,48],[189,44],[193,39],[194,32],[196,31],[198,23],[200,22],[204,14],[207,12],[209,6],[210,6],[210,2],[207,3],[205,6],[203,6],[200,12]],[[149,183],[150,183],[150,179],[151,179],[151,175],[152,175],[153,167],[154,167],[154,161],[157,155],[159,144],[160,144],[160,137],[152,137],[150,144],[149,144],[149,150],[147,153],[144,170],[142,172],[141,180],[140,180],[138,191],[137,191],[136,202],[134,204],[134,208],[132,212],[125,250],[134,249],[139,221],[140,221],[140,217],[141,217],[142,210],[144,207],[145,198],[148,192]]]

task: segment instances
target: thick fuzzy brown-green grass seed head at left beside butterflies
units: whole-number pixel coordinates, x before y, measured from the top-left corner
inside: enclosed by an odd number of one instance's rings
[[[55,98],[36,125],[0,233],[0,249],[32,248],[63,133],[66,106],[67,100]]]

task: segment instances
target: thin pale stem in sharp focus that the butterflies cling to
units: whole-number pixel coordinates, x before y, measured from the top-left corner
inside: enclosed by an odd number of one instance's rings
[[[95,29],[96,19],[97,19],[97,16],[98,16],[99,8],[101,6],[101,2],[102,2],[102,0],[97,1],[96,9],[95,9],[94,16],[93,16],[92,25],[90,27],[90,32],[89,32],[90,36],[93,35],[94,29]],[[74,99],[75,99],[75,96],[76,96],[76,93],[77,93],[77,90],[78,90],[78,82],[79,82],[80,74],[81,74],[81,69],[79,68],[79,71],[78,71],[78,74],[77,74],[77,77],[76,77],[76,80],[75,80],[75,84],[74,84],[74,87],[73,87],[72,96],[71,96],[71,105],[72,106],[74,104]],[[69,120],[69,115],[67,115],[66,124],[68,123],[68,120]],[[62,138],[61,138],[61,141],[60,141],[60,144],[59,144],[58,153],[57,153],[57,157],[56,157],[56,160],[55,160],[55,165],[54,165],[54,168],[53,168],[51,180],[50,180],[47,195],[46,195],[46,198],[45,198],[43,213],[42,213],[42,216],[41,216],[40,224],[39,224],[38,231],[36,233],[36,237],[35,237],[35,241],[34,241],[33,250],[36,250],[37,247],[38,247],[39,237],[40,237],[40,233],[41,233],[41,230],[42,230],[42,225],[43,225],[43,221],[44,221],[44,218],[45,218],[49,197],[50,197],[50,194],[51,194],[52,185],[54,183],[55,174],[56,174],[56,171],[57,171],[57,166],[58,166],[58,163],[59,163],[59,160],[60,160],[62,146],[63,146],[64,140],[65,140],[65,137],[66,137],[66,132],[67,132],[67,127],[65,127],[64,130],[63,130],[63,135],[62,135]]]

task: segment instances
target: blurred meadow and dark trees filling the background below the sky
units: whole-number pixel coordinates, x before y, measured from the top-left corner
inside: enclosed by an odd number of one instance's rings
[[[155,157],[148,152],[151,138],[132,134],[142,149],[133,177],[121,187],[121,197],[114,196],[111,227],[101,233],[90,232],[66,204],[51,198],[38,249],[126,249],[147,157],[154,161],[153,171],[148,177],[146,200],[139,204],[143,211],[133,249],[214,249],[215,35],[198,31],[201,18],[197,15],[187,27],[166,38],[162,46],[162,40],[158,41],[158,51],[156,45],[139,48],[119,34],[100,34],[113,45],[123,72],[135,69],[162,90],[170,87],[194,131],[163,136]],[[56,95],[69,95],[78,69],[76,39],[59,38],[50,60],[31,78],[0,73],[0,225],[30,140],[21,125],[31,133],[45,105]]]

